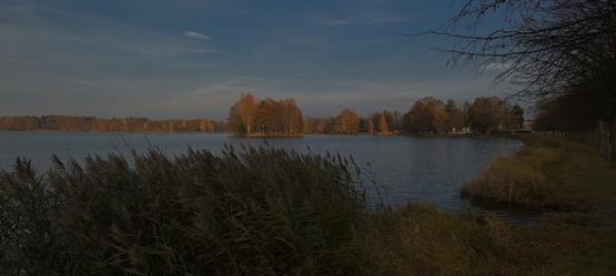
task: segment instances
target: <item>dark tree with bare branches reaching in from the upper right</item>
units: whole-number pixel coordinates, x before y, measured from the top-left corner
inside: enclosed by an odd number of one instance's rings
[[[504,16],[504,24],[482,25],[491,16]],[[444,49],[453,53],[451,63],[497,70],[496,82],[516,84],[522,88],[517,95],[538,106],[569,106],[575,102],[555,103],[576,94],[588,99],[575,110],[592,113],[590,124],[615,120],[615,1],[467,0],[451,24],[427,33],[456,40],[454,48]]]

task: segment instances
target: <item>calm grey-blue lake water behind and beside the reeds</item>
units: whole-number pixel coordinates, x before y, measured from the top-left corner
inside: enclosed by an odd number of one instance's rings
[[[0,168],[10,167],[16,157],[32,160],[42,171],[55,153],[60,159],[83,159],[88,154],[127,153],[130,147],[147,151],[156,146],[168,154],[179,154],[189,146],[220,152],[224,144],[263,145],[263,140],[230,137],[229,134],[115,134],[115,133],[37,133],[0,132]],[[417,139],[406,136],[307,135],[302,139],[272,139],[270,146],[353,155],[355,162],[372,171],[387,186],[392,205],[428,202],[445,212],[485,213],[460,197],[460,187],[476,177],[489,160],[506,155],[522,143],[511,139]],[[491,209],[499,218],[524,224],[536,213]]]

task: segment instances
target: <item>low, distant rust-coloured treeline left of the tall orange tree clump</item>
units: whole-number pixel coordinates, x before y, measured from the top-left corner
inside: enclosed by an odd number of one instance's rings
[[[224,123],[208,119],[149,120],[93,116],[0,116],[0,131],[64,132],[221,132]]]

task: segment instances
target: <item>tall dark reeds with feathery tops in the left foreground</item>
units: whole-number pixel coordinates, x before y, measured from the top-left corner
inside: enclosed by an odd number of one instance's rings
[[[0,173],[8,275],[352,274],[367,213],[341,156],[226,147]]]

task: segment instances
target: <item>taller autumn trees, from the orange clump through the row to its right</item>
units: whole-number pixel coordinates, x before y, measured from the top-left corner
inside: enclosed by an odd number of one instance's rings
[[[406,113],[380,111],[367,117],[344,109],[337,116],[305,117],[293,99],[259,101],[243,94],[231,108],[230,131],[238,134],[489,134],[519,129],[524,110],[496,96],[475,99],[460,106],[454,100],[443,102],[424,98]]]

